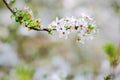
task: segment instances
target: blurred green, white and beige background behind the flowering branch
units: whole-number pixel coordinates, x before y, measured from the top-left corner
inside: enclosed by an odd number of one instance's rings
[[[99,33],[77,44],[74,35],[64,40],[57,33],[27,31],[0,0],[0,80],[104,80],[110,73],[120,43],[120,0],[16,0],[11,7],[24,6],[46,27],[56,17],[88,14]],[[120,65],[114,80],[120,80]]]

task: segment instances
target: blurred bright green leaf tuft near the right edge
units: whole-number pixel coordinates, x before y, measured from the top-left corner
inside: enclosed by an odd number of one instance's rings
[[[117,56],[117,47],[113,43],[106,43],[103,46],[103,50],[107,54],[110,61],[113,61]]]

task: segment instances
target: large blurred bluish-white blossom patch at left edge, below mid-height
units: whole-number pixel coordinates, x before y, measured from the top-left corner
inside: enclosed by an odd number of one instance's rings
[[[10,44],[0,43],[0,65],[15,66],[18,62],[18,56]]]

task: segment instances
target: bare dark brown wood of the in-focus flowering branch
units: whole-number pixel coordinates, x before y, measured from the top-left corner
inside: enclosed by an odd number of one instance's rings
[[[9,11],[10,11],[14,16],[16,16],[16,12],[13,11],[13,9],[8,5],[8,3],[6,2],[6,0],[3,0],[3,2],[4,2],[4,4],[6,5],[6,7],[9,9]],[[25,27],[27,27],[27,26],[25,25]],[[30,27],[30,29],[31,29],[31,30],[35,30],[35,31],[47,31],[47,32],[49,32],[48,28],[40,29],[40,28]],[[54,30],[56,30],[56,29],[54,29]]]

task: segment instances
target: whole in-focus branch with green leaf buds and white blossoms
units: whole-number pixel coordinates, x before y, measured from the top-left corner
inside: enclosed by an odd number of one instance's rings
[[[11,9],[5,0],[3,2],[11,11],[11,17],[16,22],[27,27],[28,30],[46,31],[49,34],[57,31],[60,37],[64,37],[65,39],[68,38],[70,33],[77,33],[76,40],[80,43],[93,39],[94,34],[97,32],[95,21],[87,15],[82,15],[78,19],[74,17],[56,18],[47,28],[42,28],[41,21],[33,18],[32,10],[29,7],[24,7],[23,10],[18,10],[17,8]]]

